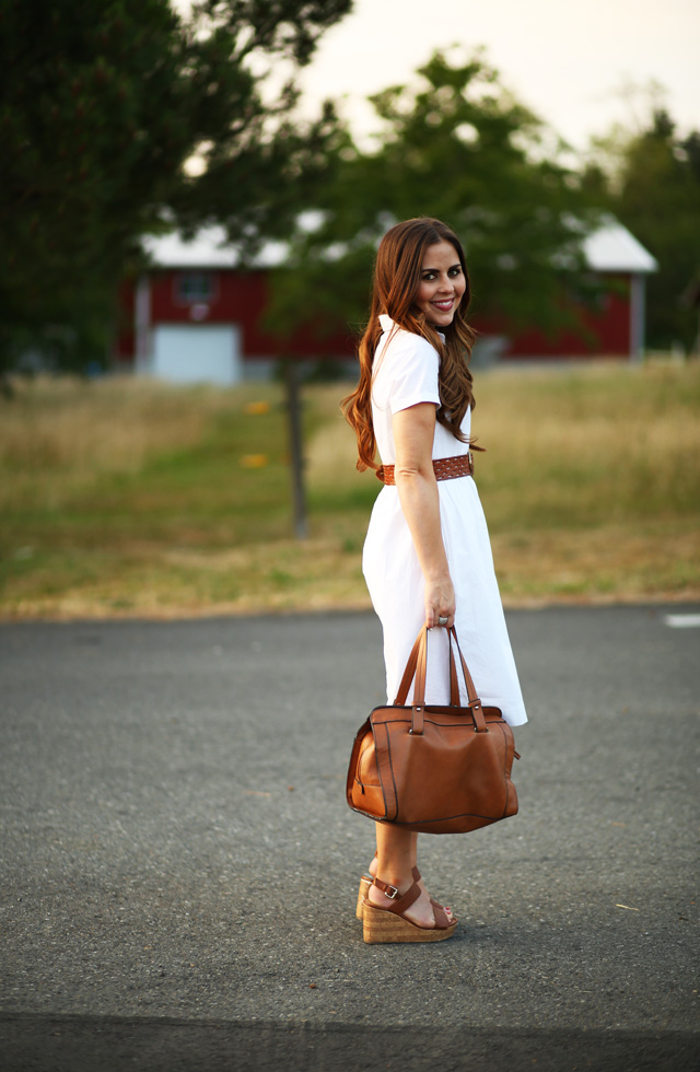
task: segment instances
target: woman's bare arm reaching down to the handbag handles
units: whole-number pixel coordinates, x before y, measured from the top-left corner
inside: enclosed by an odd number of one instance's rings
[[[433,470],[435,406],[419,403],[401,409],[392,421],[396,444],[395,479],[418,561],[425,580],[425,624],[439,617],[454,622],[455,592],[440,526],[440,497]]]

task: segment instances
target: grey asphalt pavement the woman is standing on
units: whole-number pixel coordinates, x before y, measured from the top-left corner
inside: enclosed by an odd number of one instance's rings
[[[393,946],[372,615],[0,626],[0,1069],[700,1068],[699,610],[508,615],[520,814],[421,838],[458,931]]]

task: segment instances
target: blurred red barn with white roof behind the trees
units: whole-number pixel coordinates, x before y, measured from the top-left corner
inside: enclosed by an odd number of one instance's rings
[[[332,338],[318,339],[311,329],[284,340],[266,333],[268,270],[281,264],[282,244],[268,245],[254,271],[236,267],[236,252],[220,228],[200,231],[191,242],[171,234],[145,241],[151,270],[124,290],[126,327],[117,360],[136,372],[174,382],[234,384],[270,375],[282,357],[311,360],[353,356],[354,338],[339,327]],[[478,347],[502,360],[552,360],[612,357],[635,360],[644,349],[644,281],[656,270],[654,258],[617,221],[584,242],[588,270],[618,288],[600,306],[586,311],[595,341],[573,334],[547,339],[533,329],[506,337],[498,323],[475,323]],[[132,326],[131,326],[132,325]]]

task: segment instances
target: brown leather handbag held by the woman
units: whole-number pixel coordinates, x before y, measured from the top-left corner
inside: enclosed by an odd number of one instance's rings
[[[459,655],[468,704],[459,707]],[[517,812],[511,781],[520,759],[498,708],[483,708],[450,630],[450,706],[425,706],[428,630],[418,634],[393,706],[374,708],[360,727],[348,769],[354,812],[423,834],[466,834]],[[407,704],[416,678],[413,702]]]

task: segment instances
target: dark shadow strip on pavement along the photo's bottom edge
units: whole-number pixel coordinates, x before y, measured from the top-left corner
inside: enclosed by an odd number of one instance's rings
[[[118,1016],[0,1016],[3,1072],[690,1072],[686,1032],[485,1030],[366,1024],[225,1023]]]

